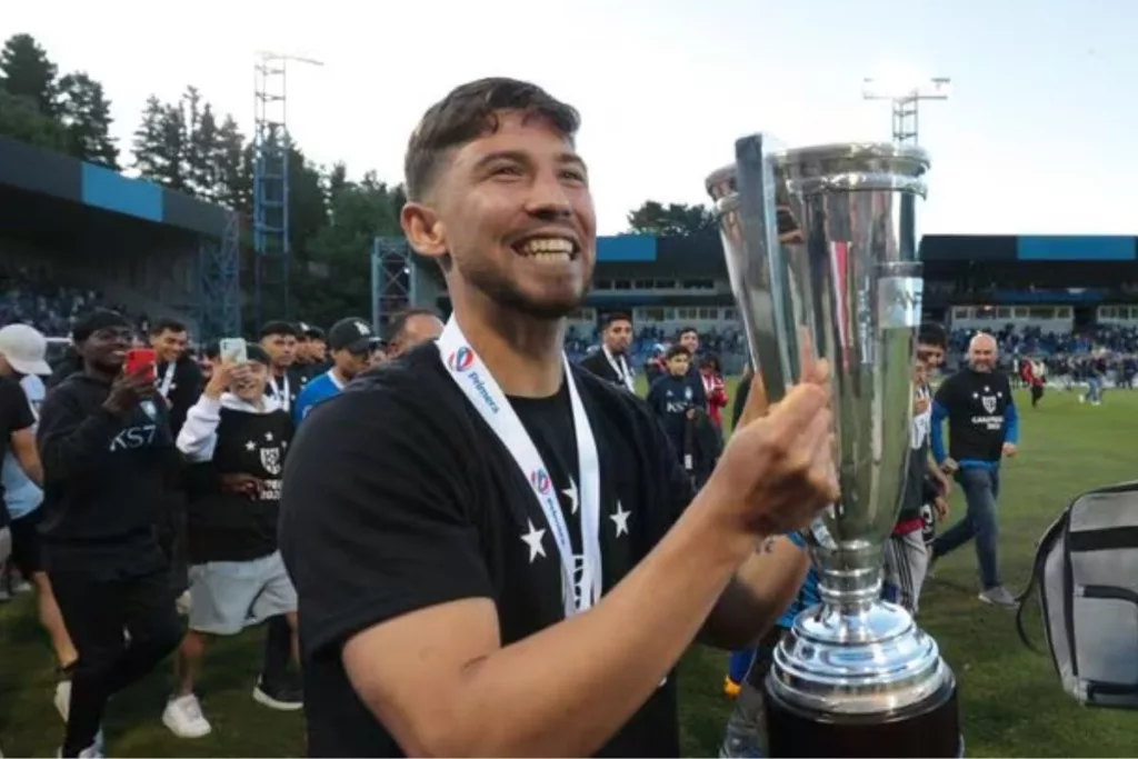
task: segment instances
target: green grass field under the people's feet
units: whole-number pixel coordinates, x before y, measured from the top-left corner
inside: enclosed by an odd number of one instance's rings
[[[1040,410],[1021,409],[1021,454],[1005,467],[1000,498],[1000,559],[1013,589],[1026,579],[1036,539],[1073,496],[1138,476],[1132,432],[1138,429],[1138,393],[1108,393],[1092,409],[1079,405],[1074,394],[1049,391]],[[958,495],[951,505],[950,519],[963,512]],[[947,558],[925,588],[920,619],[959,679],[968,756],[1133,756],[1133,715],[1077,707],[1062,693],[1049,659],[1020,643],[1012,613],[976,601],[975,581],[971,551]],[[1032,620],[1030,629],[1038,634],[1034,616]],[[168,668],[163,668],[110,704],[106,735],[112,754],[303,756],[300,716],[267,710],[250,698],[261,641],[261,632],[250,630],[208,655],[200,691],[213,735],[181,741],[163,727],[171,683]],[[704,649],[693,650],[683,662],[687,756],[716,753],[729,710],[721,695],[725,665],[726,654]],[[55,756],[63,729],[52,688],[51,661],[31,600],[0,607],[0,748],[7,756]]]

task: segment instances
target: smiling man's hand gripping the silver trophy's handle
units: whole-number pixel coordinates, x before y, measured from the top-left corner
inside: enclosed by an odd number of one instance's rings
[[[768,410],[756,376],[742,427],[707,485],[714,503],[752,535],[799,530],[839,497],[828,365],[803,364],[802,378]]]

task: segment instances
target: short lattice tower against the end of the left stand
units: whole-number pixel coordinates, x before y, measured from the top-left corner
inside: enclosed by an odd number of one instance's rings
[[[220,238],[199,240],[197,317],[201,340],[241,333],[239,239],[240,216],[229,212]]]

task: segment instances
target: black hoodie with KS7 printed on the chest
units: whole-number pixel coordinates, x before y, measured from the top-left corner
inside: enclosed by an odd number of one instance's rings
[[[156,397],[115,416],[102,407],[109,393],[109,383],[76,373],[40,409],[40,531],[51,571],[107,579],[166,563],[156,526],[181,461],[166,404]]]

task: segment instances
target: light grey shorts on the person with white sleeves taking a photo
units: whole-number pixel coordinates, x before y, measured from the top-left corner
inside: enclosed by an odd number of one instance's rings
[[[190,629],[236,635],[296,611],[296,589],[277,553],[253,561],[213,561],[190,567]]]

